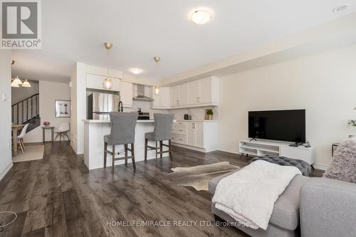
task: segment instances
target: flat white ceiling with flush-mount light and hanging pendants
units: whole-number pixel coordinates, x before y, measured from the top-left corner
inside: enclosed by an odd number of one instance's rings
[[[347,3],[347,11],[333,13],[345,1],[46,0],[42,49],[14,50],[13,75],[66,82],[81,61],[167,78],[356,11],[356,0]],[[189,21],[201,6],[214,14],[203,26]],[[109,58],[105,41],[114,44]],[[154,56],[161,57],[157,70]]]

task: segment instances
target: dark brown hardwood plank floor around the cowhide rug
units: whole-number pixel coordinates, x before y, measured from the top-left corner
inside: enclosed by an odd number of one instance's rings
[[[170,186],[172,167],[228,161],[244,167],[247,157],[207,154],[173,147],[169,158],[88,171],[68,142],[48,142],[44,158],[14,164],[0,181],[0,211],[18,218],[0,236],[246,236],[233,227],[200,226],[211,221],[211,195]],[[315,171],[314,176],[322,172]],[[9,216],[8,216],[9,218]],[[0,222],[8,219],[0,216]],[[112,223],[114,221],[114,223]],[[120,227],[115,221],[198,221],[197,226]]]

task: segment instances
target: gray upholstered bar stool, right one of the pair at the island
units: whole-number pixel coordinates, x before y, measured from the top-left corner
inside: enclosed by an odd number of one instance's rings
[[[172,124],[174,115],[166,115],[166,114],[154,114],[155,119],[155,130],[153,132],[147,132],[145,134],[145,161],[147,160],[147,149],[155,149],[156,151],[156,160],[157,155],[160,154],[162,158],[162,154],[169,152],[169,158],[172,160],[172,152],[171,152],[171,137],[172,137]],[[150,147],[147,143],[148,141],[155,141],[156,146]],[[168,145],[163,144],[163,141],[168,140]],[[157,147],[157,142],[159,142],[159,152]],[[164,147],[169,147],[168,151],[163,151]]]

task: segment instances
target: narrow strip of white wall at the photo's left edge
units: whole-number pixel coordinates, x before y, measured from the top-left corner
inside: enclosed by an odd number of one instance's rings
[[[12,166],[11,161],[11,51],[0,53],[0,180]]]

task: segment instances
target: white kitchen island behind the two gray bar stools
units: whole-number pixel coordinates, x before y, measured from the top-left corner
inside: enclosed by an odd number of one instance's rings
[[[84,163],[88,169],[99,169],[104,167],[104,136],[110,135],[110,120],[83,120],[84,122]],[[154,120],[137,120],[135,133],[135,162],[145,160],[145,133],[155,130]],[[164,141],[168,144],[168,141]],[[155,147],[155,142],[149,145]],[[129,147],[131,145],[129,144]],[[108,149],[112,147],[108,145]],[[163,147],[167,150],[168,147]],[[124,157],[124,145],[117,145],[115,152],[120,152],[117,157]],[[129,152],[130,155],[130,152]],[[164,153],[163,157],[168,157],[169,153]],[[147,159],[155,159],[155,150],[147,151]],[[158,155],[159,157],[159,155]],[[158,158],[159,159],[159,158]],[[111,166],[112,156],[108,154],[107,167]],[[127,159],[132,162],[132,159]],[[125,164],[125,160],[118,160],[116,164]],[[130,165],[132,168],[132,165]]]

